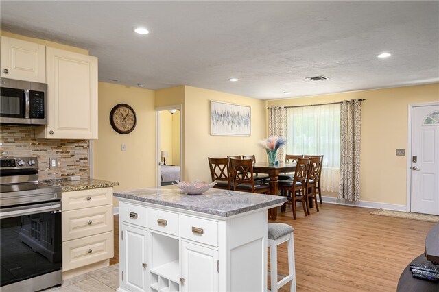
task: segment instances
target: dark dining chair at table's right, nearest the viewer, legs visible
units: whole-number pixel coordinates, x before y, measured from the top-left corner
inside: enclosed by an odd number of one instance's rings
[[[296,220],[296,202],[302,202],[305,216],[309,215],[309,206],[305,186],[307,183],[309,158],[298,158],[296,162],[296,171],[294,171],[293,180],[279,180],[279,189],[281,194],[287,195],[286,204],[291,204],[293,209],[293,218]]]

